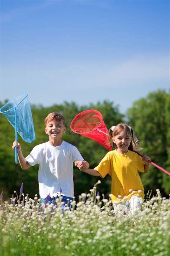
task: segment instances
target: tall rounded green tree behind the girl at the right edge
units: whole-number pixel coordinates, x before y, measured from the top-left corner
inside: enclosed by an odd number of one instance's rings
[[[164,169],[170,167],[170,95],[157,90],[133,103],[127,112],[131,125],[140,140],[141,154],[151,157],[152,162]],[[161,188],[162,194],[169,193],[169,177],[151,166],[149,173],[142,174],[145,190]]]

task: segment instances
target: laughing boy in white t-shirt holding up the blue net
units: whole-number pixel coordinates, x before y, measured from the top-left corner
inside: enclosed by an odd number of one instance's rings
[[[24,158],[21,146],[14,141],[12,148],[17,147],[20,166],[23,170],[39,164],[38,182],[39,195],[42,203],[53,202],[57,196],[62,195],[62,201],[72,200],[74,196],[73,162],[78,168],[89,168],[78,149],[62,140],[66,131],[65,118],[57,112],[49,113],[45,118],[45,132],[49,141],[33,148]]]

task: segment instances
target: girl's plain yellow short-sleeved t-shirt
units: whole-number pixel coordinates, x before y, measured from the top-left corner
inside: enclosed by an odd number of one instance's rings
[[[124,197],[129,200],[132,195],[144,196],[144,188],[138,172],[144,172],[142,158],[128,150],[125,154],[119,154],[116,150],[108,152],[95,170],[104,178],[106,174],[112,177],[112,202],[119,202]],[[132,192],[129,192],[132,190]],[[137,192],[141,190],[141,192]]]

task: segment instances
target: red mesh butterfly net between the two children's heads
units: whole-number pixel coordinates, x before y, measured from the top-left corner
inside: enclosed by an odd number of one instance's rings
[[[112,150],[110,143],[106,143],[108,139],[108,129],[99,111],[86,110],[79,113],[72,120],[70,128],[72,131],[98,142],[108,150]]]

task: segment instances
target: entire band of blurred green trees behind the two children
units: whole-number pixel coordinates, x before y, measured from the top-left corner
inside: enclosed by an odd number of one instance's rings
[[[5,102],[0,102],[0,107]],[[163,167],[170,172],[170,91],[157,90],[149,93],[146,98],[141,98],[133,102],[126,115],[119,111],[119,107],[114,102],[97,102],[85,106],[78,106],[75,102],[64,102],[51,107],[42,105],[32,105],[32,116],[36,140],[32,143],[25,143],[18,135],[18,141],[22,146],[23,155],[26,157],[32,148],[38,144],[48,141],[48,135],[44,132],[44,118],[50,112],[59,112],[66,118],[67,132],[63,135],[63,140],[75,145],[86,161],[90,163],[90,168],[95,168],[104,155],[108,152],[106,148],[95,141],[74,134],[70,130],[72,119],[80,112],[95,109],[101,112],[105,125],[109,129],[120,122],[125,122],[131,126],[140,140],[143,148],[141,154],[151,157],[152,162]],[[23,171],[19,164],[15,164],[12,144],[15,139],[15,130],[10,125],[7,118],[0,115],[0,192],[3,191],[4,199],[9,200],[16,190],[19,193],[21,183],[24,184],[24,195],[34,197],[38,194],[38,164]],[[169,176],[151,165],[149,173],[141,174],[141,179],[145,191],[160,189],[163,196],[170,192]],[[98,179],[101,180],[100,187],[97,188],[100,194],[105,197],[111,192],[111,178],[107,175],[104,179],[90,176],[83,173],[74,166],[74,191],[76,199],[82,192],[89,192]]]

